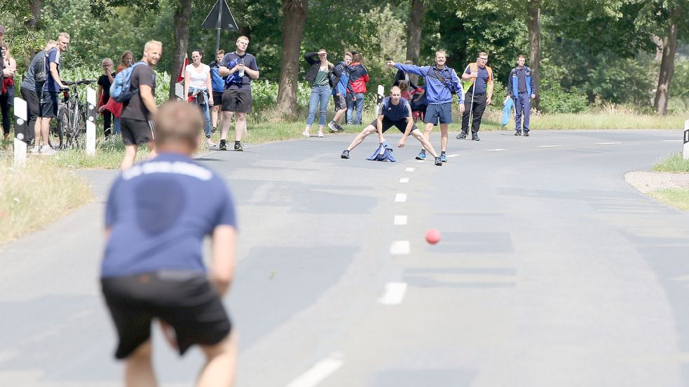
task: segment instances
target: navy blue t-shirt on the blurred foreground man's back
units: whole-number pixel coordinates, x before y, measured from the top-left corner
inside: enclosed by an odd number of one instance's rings
[[[237,221],[221,177],[186,156],[160,154],[116,179],[105,224],[111,235],[102,278],[161,270],[205,273],[203,238]]]

